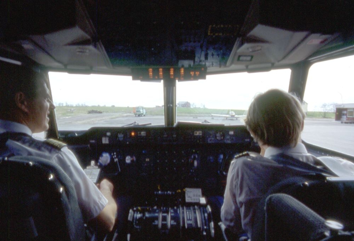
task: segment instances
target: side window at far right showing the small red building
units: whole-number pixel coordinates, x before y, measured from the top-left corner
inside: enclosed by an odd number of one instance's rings
[[[354,155],[354,56],[310,67],[304,102],[307,117],[302,139]]]

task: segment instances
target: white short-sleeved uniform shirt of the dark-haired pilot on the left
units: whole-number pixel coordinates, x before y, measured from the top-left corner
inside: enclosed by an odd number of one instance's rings
[[[16,122],[0,120],[0,134],[4,132],[25,133],[32,136],[32,131],[27,126]],[[107,205],[108,200],[87,177],[74,153],[68,147],[65,146],[61,150],[58,150],[54,147],[51,148],[43,143],[43,141],[33,137],[25,138],[19,142],[8,140],[6,147],[8,148],[8,152],[14,155],[41,157],[59,165],[74,184],[84,220],[89,221],[97,217]],[[4,154],[6,153],[0,153],[0,155]]]

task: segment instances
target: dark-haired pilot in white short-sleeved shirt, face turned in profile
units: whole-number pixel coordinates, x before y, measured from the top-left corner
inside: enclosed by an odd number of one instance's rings
[[[47,75],[33,66],[1,63],[0,155],[33,155],[58,164],[74,184],[84,219],[111,231],[117,211],[113,184],[103,179],[96,186],[65,145],[32,137],[48,130],[49,114],[55,109],[47,83]]]

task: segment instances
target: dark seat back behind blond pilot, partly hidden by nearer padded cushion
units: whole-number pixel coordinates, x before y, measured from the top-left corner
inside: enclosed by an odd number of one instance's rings
[[[354,181],[330,181],[330,178],[314,174],[291,177],[270,188],[258,203],[252,226],[252,240],[264,240],[265,201],[269,195],[275,193],[289,194],[324,219],[335,219],[344,225],[344,230],[354,230]],[[282,212],[285,215],[287,210]],[[280,229],[278,231],[281,232]]]

